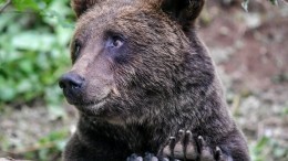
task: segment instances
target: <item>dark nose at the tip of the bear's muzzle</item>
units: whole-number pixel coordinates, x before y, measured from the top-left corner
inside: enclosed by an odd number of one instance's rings
[[[84,78],[74,73],[66,73],[61,76],[59,86],[62,89],[81,89],[84,84]]]

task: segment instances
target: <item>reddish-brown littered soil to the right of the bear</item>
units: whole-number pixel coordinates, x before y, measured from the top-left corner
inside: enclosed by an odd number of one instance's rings
[[[239,6],[208,3],[200,36],[216,62],[227,99],[249,146],[269,138],[265,160],[288,160],[288,6],[251,1]],[[208,18],[207,18],[208,17]],[[206,22],[205,20],[209,20]],[[268,146],[267,144],[267,146]],[[281,154],[277,153],[281,149]],[[279,152],[280,153],[280,152]]]

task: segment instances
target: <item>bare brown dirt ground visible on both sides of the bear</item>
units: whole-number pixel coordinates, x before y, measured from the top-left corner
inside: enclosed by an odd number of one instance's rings
[[[251,151],[259,150],[266,161],[287,161],[288,6],[255,0],[249,7],[247,13],[237,2],[220,6],[217,0],[208,1],[198,32],[216,63],[230,110]],[[74,109],[64,107],[69,115],[61,121],[51,118],[41,105],[8,109],[4,116],[0,114],[0,137],[29,146],[51,130],[73,129]],[[6,155],[0,148],[0,158]]]

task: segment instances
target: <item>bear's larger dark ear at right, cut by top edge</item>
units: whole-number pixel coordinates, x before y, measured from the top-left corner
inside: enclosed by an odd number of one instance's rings
[[[194,24],[205,0],[162,0],[162,10],[184,28]]]

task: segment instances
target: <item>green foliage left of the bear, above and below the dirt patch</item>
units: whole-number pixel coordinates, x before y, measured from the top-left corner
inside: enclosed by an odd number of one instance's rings
[[[0,9],[6,3],[0,0]],[[7,105],[44,100],[51,119],[63,117],[59,77],[70,66],[69,43],[74,14],[70,0],[12,0],[0,12],[0,115]],[[16,146],[17,158],[55,160],[69,130],[51,131],[32,147]],[[0,137],[0,151],[11,142]],[[21,151],[22,150],[22,151]]]

